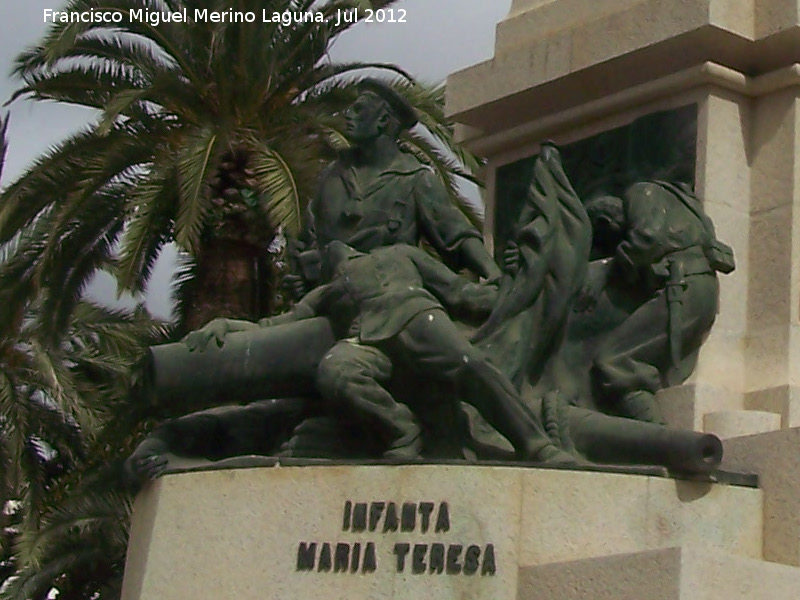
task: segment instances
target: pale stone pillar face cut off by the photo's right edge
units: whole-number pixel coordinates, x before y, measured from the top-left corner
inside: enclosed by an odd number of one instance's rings
[[[753,103],[747,406],[800,425],[800,78]],[[794,79],[794,81],[791,81]]]

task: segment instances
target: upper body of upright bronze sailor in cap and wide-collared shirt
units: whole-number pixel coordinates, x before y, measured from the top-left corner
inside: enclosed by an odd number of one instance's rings
[[[400,150],[398,136],[416,123],[412,115],[401,96],[373,80],[345,112],[352,148],[323,173],[305,215],[296,255],[302,292],[319,282],[319,253],[334,240],[362,252],[424,240],[455,269],[500,276],[441,181]]]

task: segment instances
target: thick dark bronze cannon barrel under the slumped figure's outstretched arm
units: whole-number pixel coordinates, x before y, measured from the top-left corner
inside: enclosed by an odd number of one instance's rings
[[[317,317],[231,333],[221,348],[213,342],[194,352],[180,342],[152,346],[138,393],[194,410],[312,394],[317,365],[333,344],[328,320]]]

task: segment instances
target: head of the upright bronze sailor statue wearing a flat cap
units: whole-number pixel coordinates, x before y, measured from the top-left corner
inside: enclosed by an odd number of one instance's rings
[[[344,113],[345,132],[354,144],[380,136],[394,139],[417,123],[412,106],[385,83],[365,79],[358,91],[358,98]]]

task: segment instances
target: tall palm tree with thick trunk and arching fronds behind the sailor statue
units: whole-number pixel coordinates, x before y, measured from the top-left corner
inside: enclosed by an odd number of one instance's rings
[[[475,163],[457,152],[469,167],[461,168],[441,150],[454,147],[443,89],[391,65],[327,58],[350,27],[331,18],[337,11],[363,15],[395,1],[70,0],[69,11],[114,11],[122,22],[54,24],[17,59],[24,86],[15,98],[90,106],[100,116],[0,196],[0,243],[22,230],[28,239],[14,268],[0,273],[6,306],[40,294],[45,329],[57,331],[97,269],[141,292],[174,240],[193,260],[184,327],[269,312],[269,251],[280,231],[298,229],[320,169],[346,147],[340,114],[367,68],[392,74],[415,105],[428,133],[409,133],[409,151],[457,198],[455,177],[470,177]],[[324,20],[154,25],[131,20],[131,9],[186,9],[190,20],[195,9],[312,11]]]

